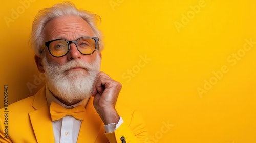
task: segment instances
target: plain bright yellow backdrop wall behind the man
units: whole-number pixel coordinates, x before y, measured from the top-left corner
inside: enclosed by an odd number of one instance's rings
[[[57,2],[1,2],[0,107],[5,84],[9,103],[43,85],[28,41],[37,11]],[[118,104],[142,113],[152,142],[256,142],[255,1],[72,2],[101,16],[101,70],[122,83]]]

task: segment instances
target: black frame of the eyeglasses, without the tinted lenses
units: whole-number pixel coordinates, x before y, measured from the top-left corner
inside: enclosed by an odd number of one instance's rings
[[[81,53],[81,51],[78,49],[77,41],[80,40],[80,39],[82,39],[82,38],[92,38],[92,39],[94,39],[94,41],[95,41],[96,44],[95,44],[95,49],[94,49],[94,51],[93,51],[92,53],[90,53],[90,54],[83,54],[83,53]],[[57,41],[57,40],[64,40],[64,41],[66,41],[66,42],[68,43],[68,46],[69,46],[67,53],[64,54],[64,55],[62,55],[62,56],[54,56],[54,55],[52,55],[52,53],[51,53],[51,51],[50,51],[50,49],[49,49],[50,43],[53,42],[53,41]],[[75,40],[75,41],[74,41],[74,40],[69,41],[69,40],[66,40],[66,39],[55,39],[55,40],[51,40],[51,41],[45,42],[44,45],[42,45],[42,47],[41,47],[41,49],[40,49],[40,53],[42,53],[42,51],[45,49],[45,47],[47,47],[49,53],[50,53],[53,57],[60,58],[60,57],[63,57],[63,56],[65,56],[65,55],[67,55],[67,54],[69,53],[70,44],[74,43],[74,44],[76,45],[76,49],[77,49],[81,54],[83,54],[83,55],[91,55],[91,54],[93,54],[93,53],[96,51],[96,49],[98,49],[98,42],[99,42],[99,38],[98,38],[98,37],[86,37],[86,36],[85,36],[85,37],[80,37],[80,38],[78,38],[78,39]]]

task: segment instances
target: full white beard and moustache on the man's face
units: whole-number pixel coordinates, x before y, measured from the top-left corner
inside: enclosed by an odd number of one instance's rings
[[[92,65],[81,60],[71,60],[60,66],[56,62],[50,64],[46,57],[42,59],[42,64],[44,65],[46,83],[54,96],[68,103],[91,97],[94,80],[100,71],[98,54]],[[87,73],[81,70],[66,71],[74,67],[84,68]]]

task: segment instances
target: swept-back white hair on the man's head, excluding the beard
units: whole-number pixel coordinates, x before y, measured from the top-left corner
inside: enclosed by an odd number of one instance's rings
[[[43,32],[45,26],[49,21],[64,16],[79,16],[86,21],[91,27],[94,36],[99,38],[98,51],[101,52],[103,50],[102,34],[96,27],[97,22],[99,21],[100,23],[101,21],[100,16],[86,10],[78,10],[72,2],[63,2],[53,5],[51,8],[40,10],[33,21],[30,45],[38,57],[41,57],[40,48],[45,40]]]

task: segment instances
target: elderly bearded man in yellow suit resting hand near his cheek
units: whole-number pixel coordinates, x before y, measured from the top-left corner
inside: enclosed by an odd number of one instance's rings
[[[8,133],[1,116],[0,142],[148,140],[138,112],[115,107],[121,84],[100,72],[103,44],[96,20],[72,3],[39,11],[31,44],[46,86],[9,105]]]

